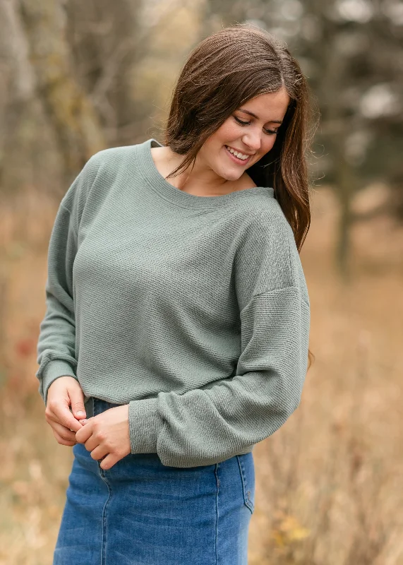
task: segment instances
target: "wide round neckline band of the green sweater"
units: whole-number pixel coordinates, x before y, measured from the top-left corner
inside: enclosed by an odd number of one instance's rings
[[[219,196],[196,196],[188,192],[177,189],[176,186],[169,183],[160,171],[157,169],[152,158],[152,147],[164,147],[162,143],[155,138],[150,138],[143,143],[138,144],[138,167],[145,180],[150,187],[160,196],[178,206],[184,208],[217,208],[217,206],[227,206],[229,203],[239,199],[249,198],[255,195],[263,195],[274,198],[274,189],[270,186],[251,186],[250,189],[242,189],[239,191],[229,192]]]

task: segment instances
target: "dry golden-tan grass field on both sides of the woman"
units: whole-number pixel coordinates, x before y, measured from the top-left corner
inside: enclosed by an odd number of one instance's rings
[[[55,213],[33,190],[0,206],[0,565],[52,563],[72,462],[35,378]],[[337,218],[317,189],[301,252],[315,361],[298,410],[253,451],[250,565],[403,564],[403,227],[356,225],[346,284]]]

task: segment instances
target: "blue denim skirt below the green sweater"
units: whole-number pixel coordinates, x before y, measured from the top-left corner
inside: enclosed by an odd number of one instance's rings
[[[90,399],[92,414],[116,404]],[[53,565],[246,565],[255,501],[252,453],[169,467],[157,453],[100,468],[73,446]]]

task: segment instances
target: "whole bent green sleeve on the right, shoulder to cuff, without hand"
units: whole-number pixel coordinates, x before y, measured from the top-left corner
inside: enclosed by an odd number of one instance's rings
[[[210,465],[270,436],[297,408],[306,376],[310,310],[291,227],[262,213],[234,259],[241,355],[236,374],[183,394],[129,403],[132,453],[164,465]]]

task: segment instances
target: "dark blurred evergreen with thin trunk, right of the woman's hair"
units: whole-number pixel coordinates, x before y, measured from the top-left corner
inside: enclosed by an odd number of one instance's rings
[[[366,218],[352,196],[373,180],[395,188],[403,219],[403,2],[399,0],[207,0],[208,29],[249,21],[287,42],[318,97],[313,169],[332,184],[341,215],[337,260],[348,278],[349,230]],[[222,27],[222,25],[218,25]],[[379,208],[383,212],[384,207]],[[373,217],[373,213],[368,218]]]

